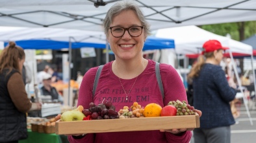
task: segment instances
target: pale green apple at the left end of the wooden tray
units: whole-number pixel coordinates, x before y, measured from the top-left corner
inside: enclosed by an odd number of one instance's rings
[[[76,109],[71,111],[65,111],[60,116],[61,121],[76,121],[76,120],[83,120],[84,114],[81,111],[78,111]]]

